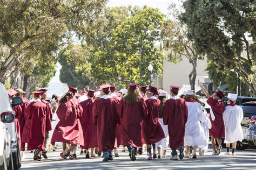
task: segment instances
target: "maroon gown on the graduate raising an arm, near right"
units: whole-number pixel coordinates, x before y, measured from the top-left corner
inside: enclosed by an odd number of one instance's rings
[[[223,101],[215,100],[212,96],[208,98],[207,103],[211,106],[212,112],[215,116],[214,121],[210,114],[210,121],[212,128],[209,129],[210,135],[214,138],[225,137],[225,126],[222,114],[225,111],[225,104]]]

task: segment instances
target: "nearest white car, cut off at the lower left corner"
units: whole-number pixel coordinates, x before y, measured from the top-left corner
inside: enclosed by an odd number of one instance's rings
[[[12,169],[11,137],[3,122],[0,122],[0,168]]]

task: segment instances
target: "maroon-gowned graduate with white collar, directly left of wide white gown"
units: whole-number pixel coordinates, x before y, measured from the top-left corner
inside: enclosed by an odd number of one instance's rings
[[[168,125],[170,137],[170,148],[172,149],[171,160],[177,160],[177,148],[179,149],[179,158],[184,158],[184,136],[185,124],[187,122],[187,103],[180,98],[179,86],[170,86],[171,98],[165,102],[163,111],[164,125]]]

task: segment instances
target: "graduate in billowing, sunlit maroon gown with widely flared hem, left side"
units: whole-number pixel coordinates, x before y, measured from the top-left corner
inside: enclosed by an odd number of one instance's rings
[[[74,159],[73,154],[75,146],[78,144],[84,146],[83,129],[80,124],[80,119],[83,115],[83,108],[79,103],[72,100],[73,93],[68,91],[62,99],[56,111],[59,122],[53,131],[51,144],[62,142],[63,152],[60,154],[63,159],[66,159],[66,144],[71,144],[69,159]]]

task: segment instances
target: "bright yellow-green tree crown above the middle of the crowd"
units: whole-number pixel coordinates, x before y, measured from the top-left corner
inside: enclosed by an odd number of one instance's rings
[[[161,76],[163,53],[154,47],[160,40],[164,15],[158,9],[143,9],[112,29],[105,48],[93,55],[92,75],[98,83],[127,81],[149,83],[149,63]]]

